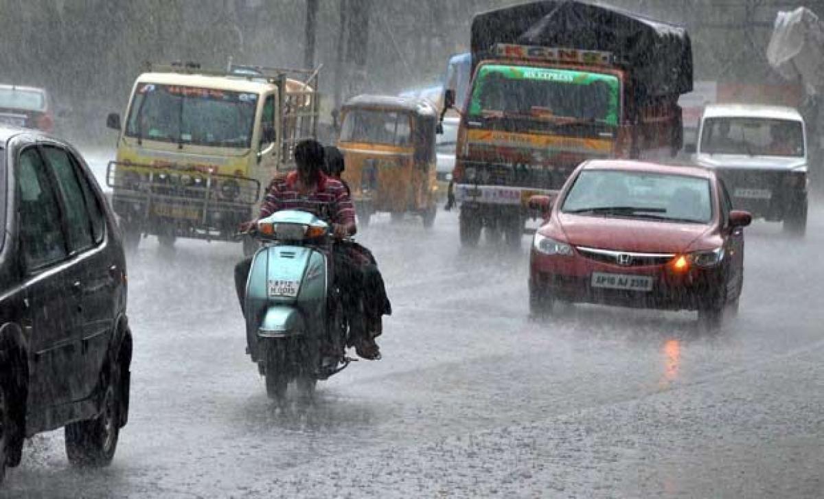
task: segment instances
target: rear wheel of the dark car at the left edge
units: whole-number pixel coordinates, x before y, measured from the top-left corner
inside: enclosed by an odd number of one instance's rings
[[[75,466],[102,468],[111,463],[120,434],[120,366],[110,367],[101,413],[66,426],[66,455]]]

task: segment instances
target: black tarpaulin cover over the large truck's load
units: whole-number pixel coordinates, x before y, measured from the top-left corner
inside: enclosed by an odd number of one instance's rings
[[[635,96],[642,101],[692,90],[692,48],[686,30],[614,7],[546,0],[476,15],[473,68],[491,57],[495,44],[611,52],[617,63],[630,69]]]

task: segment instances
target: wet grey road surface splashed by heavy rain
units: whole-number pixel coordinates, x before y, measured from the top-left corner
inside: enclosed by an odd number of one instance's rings
[[[578,305],[527,319],[527,245],[457,246],[378,217],[360,240],[395,314],[384,359],[278,409],[244,354],[239,245],[150,238],[129,261],[129,426],[77,471],[62,431],[7,475],[12,497],[822,497],[824,210],[809,236],[747,230],[741,315]]]

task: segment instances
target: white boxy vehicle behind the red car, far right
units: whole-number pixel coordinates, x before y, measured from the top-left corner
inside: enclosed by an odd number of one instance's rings
[[[733,208],[783,222],[802,236],[807,227],[807,135],[801,114],[775,105],[706,106],[695,161],[718,172]]]

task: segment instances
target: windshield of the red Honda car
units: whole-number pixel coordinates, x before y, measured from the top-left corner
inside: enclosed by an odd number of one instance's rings
[[[713,207],[709,180],[625,170],[583,170],[561,212],[603,217],[706,223]]]

